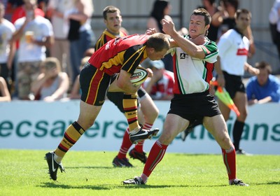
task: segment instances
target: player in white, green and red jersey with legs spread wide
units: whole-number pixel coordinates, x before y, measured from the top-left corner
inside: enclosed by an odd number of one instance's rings
[[[174,138],[195,120],[221,146],[230,185],[248,186],[236,176],[235,146],[230,140],[225,120],[214,96],[209,92],[214,62],[218,56],[216,43],[207,38],[211,16],[204,9],[194,10],[190,16],[189,36],[180,36],[174,23],[162,20],[163,31],[171,39],[174,58],[174,98],[165,119],[162,134],[151,148],[141,176],[123,181],[123,184],[146,184],[153,169],[162,160]],[[191,41],[190,41],[191,40]],[[205,146],[207,148],[207,146]]]

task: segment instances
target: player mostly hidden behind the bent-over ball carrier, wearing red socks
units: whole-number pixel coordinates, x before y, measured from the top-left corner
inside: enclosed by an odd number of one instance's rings
[[[108,41],[113,38],[127,36],[127,31],[122,27],[122,16],[120,14],[120,9],[115,6],[106,6],[103,10],[103,18],[104,23],[106,25],[106,29],[103,31],[102,35],[98,38],[97,43],[95,44],[94,49],[98,50]],[[152,29],[147,30],[147,34]],[[150,130],[153,127],[153,123],[156,118],[158,118],[159,110],[153,99],[150,95],[144,90],[143,87],[140,87],[137,91],[137,99],[139,101],[138,119],[143,128],[146,130]],[[130,99],[130,94],[125,94],[124,92],[107,92],[107,98],[113,102],[120,112],[125,113],[127,110],[127,104],[130,104],[125,99]],[[130,107],[130,105],[128,105]],[[128,108],[130,109],[130,108]],[[133,167],[127,158],[127,152],[130,150],[132,146],[132,142],[130,141],[130,129],[127,127],[125,130],[125,134],[123,135],[123,141],[120,146],[120,150],[118,151],[118,155],[113,158],[113,166],[114,167]],[[144,152],[144,141],[139,141],[134,148],[132,148],[129,152],[130,158],[138,159],[141,162],[145,163],[147,160],[146,153]]]

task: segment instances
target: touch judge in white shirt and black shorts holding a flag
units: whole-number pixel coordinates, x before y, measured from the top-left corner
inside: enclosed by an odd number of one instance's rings
[[[218,73],[218,85],[225,87],[230,94],[233,102],[240,112],[233,127],[233,142],[237,154],[246,155],[247,153],[239,147],[241,134],[244,129],[247,117],[247,98],[242,77],[244,70],[256,75],[259,70],[247,63],[248,49],[250,41],[243,36],[251,22],[251,13],[246,9],[237,10],[235,14],[236,29],[230,29],[218,41],[219,57],[215,63]],[[218,106],[225,120],[230,118],[230,109],[218,99]]]

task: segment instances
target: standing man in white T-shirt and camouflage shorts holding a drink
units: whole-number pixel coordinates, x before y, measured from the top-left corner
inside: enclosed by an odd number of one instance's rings
[[[13,41],[20,41],[16,75],[18,99],[30,100],[31,83],[41,73],[45,50],[53,43],[53,31],[49,20],[35,14],[36,0],[25,0],[25,10],[27,16],[15,21]]]

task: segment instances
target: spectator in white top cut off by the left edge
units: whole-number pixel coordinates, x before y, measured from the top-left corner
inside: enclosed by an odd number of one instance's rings
[[[15,43],[12,41],[12,37],[15,27],[3,18],[4,14],[5,8],[3,3],[0,2],[0,76],[6,80],[10,92],[10,74],[15,55]]]

